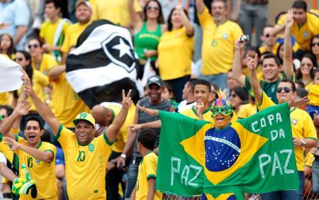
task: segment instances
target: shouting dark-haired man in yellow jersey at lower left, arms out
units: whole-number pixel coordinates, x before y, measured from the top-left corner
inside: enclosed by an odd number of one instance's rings
[[[23,130],[26,140],[18,135],[13,135],[10,128],[13,123],[21,116],[28,113],[30,104],[25,99],[21,101],[11,116],[1,125],[0,132],[3,133],[4,141],[15,150],[18,156],[19,172],[21,165],[28,167],[30,176],[37,182],[37,199],[57,199],[57,182],[55,180],[55,146],[41,141],[43,135],[43,123],[38,117],[30,116],[26,118],[26,127]],[[6,152],[4,152],[6,153]],[[50,182],[50,184],[46,184]],[[32,199],[21,195],[20,199]]]

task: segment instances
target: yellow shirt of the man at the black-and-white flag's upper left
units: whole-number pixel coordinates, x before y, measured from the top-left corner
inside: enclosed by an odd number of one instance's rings
[[[84,24],[74,23],[69,26],[69,28],[67,28],[67,34],[65,35],[61,51],[67,53],[72,46],[77,45],[77,38],[79,38],[79,35],[81,35],[83,30],[89,26],[90,23],[91,21]]]

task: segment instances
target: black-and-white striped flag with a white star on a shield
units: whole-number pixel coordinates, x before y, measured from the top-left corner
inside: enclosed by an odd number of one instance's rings
[[[122,89],[133,89],[131,96],[136,102],[137,65],[129,31],[110,21],[94,21],[67,57],[67,81],[90,108],[105,101],[121,101]]]

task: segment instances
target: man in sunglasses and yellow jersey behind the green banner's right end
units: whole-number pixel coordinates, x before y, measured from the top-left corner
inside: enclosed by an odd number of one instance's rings
[[[248,58],[248,68],[250,69],[250,84],[257,102],[259,111],[267,109],[269,106],[274,106],[272,99],[269,99],[267,94],[262,91],[257,79],[256,66],[257,58],[252,60]],[[289,102],[296,98],[296,86],[289,79],[281,79],[276,88],[276,96],[279,104]],[[298,108],[291,107],[291,130],[293,135],[293,147],[296,156],[296,165],[299,174],[300,187],[297,190],[289,191],[273,191],[262,194],[262,199],[302,199],[305,175],[303,173],[303,148],[313,148],[317,145],[318,139],[315,131],[315,126],[309,114]]]

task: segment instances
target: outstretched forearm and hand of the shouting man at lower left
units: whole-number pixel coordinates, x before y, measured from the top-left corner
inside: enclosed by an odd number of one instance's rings
[[[12,138],[4,137],[4,141],[7,145],[9,145],[10,150],[22,150],[28,153],[28,155],[33,156],[36,160],[41,160],[43,162],[52,162],[54,159],[54,155],[50,151],[42,151],[36,148],[30,148],[26,145],[18,143],[16,140],[13,140]]]

